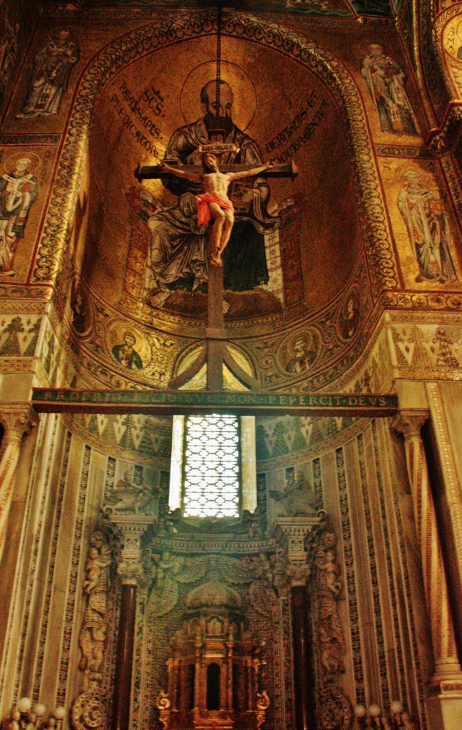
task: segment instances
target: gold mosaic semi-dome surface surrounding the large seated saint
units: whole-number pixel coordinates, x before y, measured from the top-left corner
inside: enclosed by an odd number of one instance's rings
[[[88,155],[83,277],[120,312],[136,312],[145,322],[180,320],[194,331],[205,323],[204,287],[185,291],[174,285],[161,303],[147,296],[153,286],[153,220],[160,210],[177,210],[179,201],[160,180],[139,185],[134,169],[139,163],[158,164],[169,142],[172,148],[175,131],[191,129],[204,118],[200,93],[215,78],[215,53],[212,35],[164,47],[124,67],[101,93]],[[306,66],[231,37],[223,39],[222,55],[221,76],[232,91],[232,124],[245,133],[244,144],[258,145],[262,157],[275,163],[293,159],[299,169],[293,182],[269,180],[266,210],[253,213],[254,228],[266,234],[269,283],[253,291],[239,291],[239,286],[228,291],[226,325],[252,322],[264,329],[279,323],[283,328],[335,299],[361,256],[344,126],[331,91]],[[279,220],[279,228],[267,223],[271,218]],[[248,259],[229,265],[231,280],[245,281],[248,265]],[[227,285],[228,274],[225,266],[225,288],[233,288]]]

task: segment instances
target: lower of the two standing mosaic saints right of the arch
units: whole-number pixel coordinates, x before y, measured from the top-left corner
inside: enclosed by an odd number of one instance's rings
[[[398,207],[419,265],[416,282],[457,280],[447,215],[441,200],[422,182],[417,170],[406,170],[404,179],[407,184],[398,193]]]

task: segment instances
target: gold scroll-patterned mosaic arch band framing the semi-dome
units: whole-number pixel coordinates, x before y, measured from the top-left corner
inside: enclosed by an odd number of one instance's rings
[[[58,285],[63,254],[72,228],[82,179],[93,109],[104,85],[132,61],[178,41],[216,33],[215,12],[191,12],[163,23],[150,23],[115,40],[93,57],[82,74],[65,132],[56,181],[47,209],[35,262],[36,283]],[[361,97],[347,69],[328,51],[306,37],[261,18],[226,14],[223,33],[249,39],[288,55],[326,84],[339,108],[353,160],[355,196],[363,227],[374,297],[384,288],[396,288],[393,259],[377,168]]]

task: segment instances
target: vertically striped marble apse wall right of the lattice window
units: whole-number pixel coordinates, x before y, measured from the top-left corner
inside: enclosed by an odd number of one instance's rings
[[[347,634],[345,681],[355,688],[353,704],[388,707],[399,698],[426,727],[425,677],[419,673],[423,663],[417,649],[426,626],[409,601],[409,591],[417,585],[401,521],[400,500],[407,486],[388,456],[392,441],[386,421],[358,422],[330,445],[313,442],[303,461],[290,460],[293,466],[287,466],[287,458],[261,461],[260,478],[266,483],[270,520],[322,507],[341,542],[340,617]],[[407,629],[401,623],[404,615]]]

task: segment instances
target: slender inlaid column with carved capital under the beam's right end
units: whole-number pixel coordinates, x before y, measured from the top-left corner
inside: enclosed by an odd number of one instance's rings
[[[447,596],[442,549],[430,482],[426,455],[420,429],[428,419],[428,411],[401,411],[392,426],[404,436],[407,473],[412,491],[417,539],[420,545],[426,604],[431,622],[434,648],[434,681],[440,682],[460,675],[455,645],[453,620]]]

